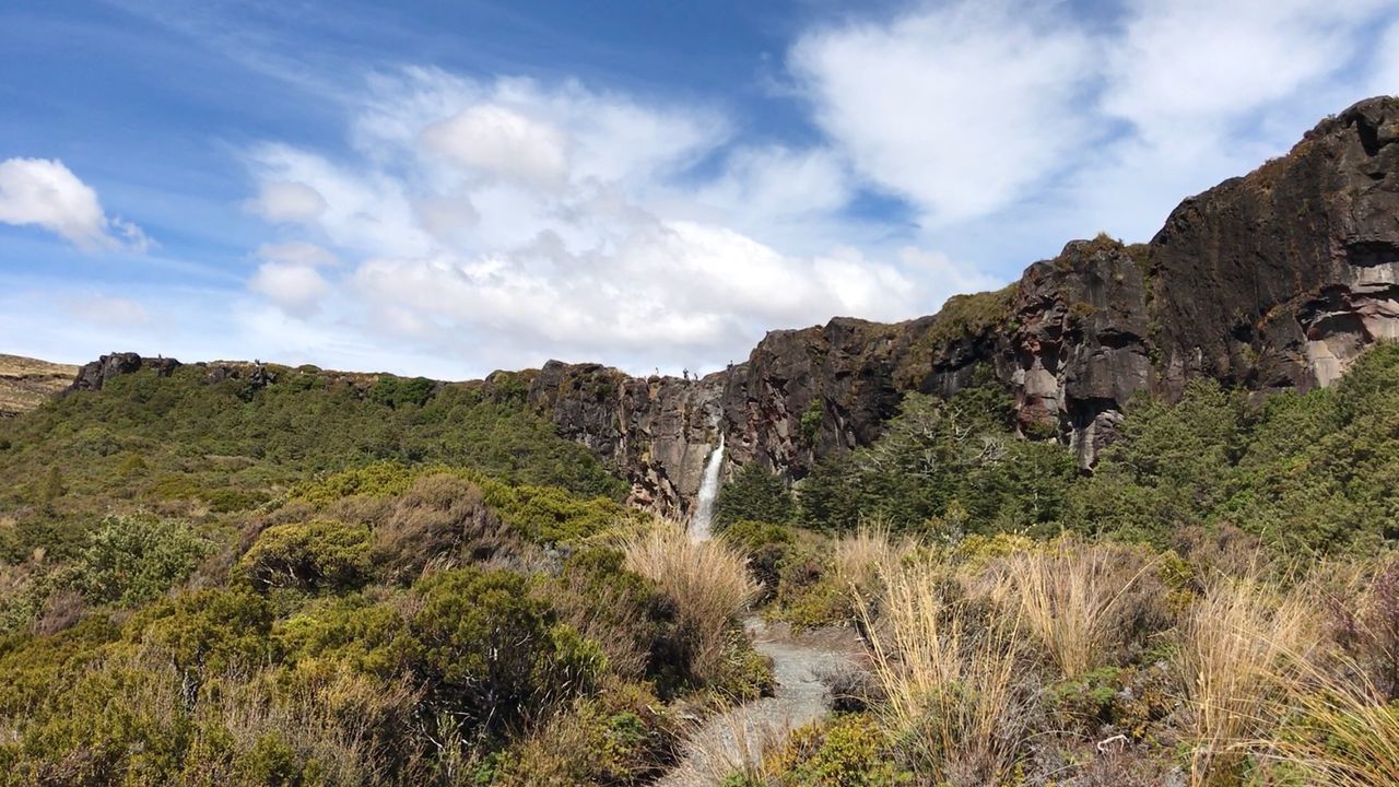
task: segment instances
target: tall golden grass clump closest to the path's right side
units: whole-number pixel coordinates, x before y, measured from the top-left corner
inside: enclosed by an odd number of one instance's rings
[[[886,724],[939,783],[999,784],[1024,752],[1030,692],[1017,611],[949,598],[950,571],[922,562],[883,576],[862,606]]]

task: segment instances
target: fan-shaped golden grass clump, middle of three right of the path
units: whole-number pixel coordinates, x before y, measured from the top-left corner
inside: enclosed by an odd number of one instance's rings
[[[1018,606],[1025,632],[1065,678],[1079,678],[1121,648],[1130,632],[1132,591],[1153,563],[1136,550],[1062,538],[1011,555],[997,590],[1003,605]]]

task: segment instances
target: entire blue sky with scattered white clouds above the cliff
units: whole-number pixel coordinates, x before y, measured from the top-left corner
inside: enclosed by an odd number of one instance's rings
[[[0,351],[713,371],[1399,92],[1399,0],[7,0]]]

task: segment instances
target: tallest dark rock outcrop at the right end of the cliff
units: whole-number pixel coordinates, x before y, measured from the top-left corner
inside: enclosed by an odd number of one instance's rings
[[[1286,157],[1185,200],[1151,241],[1164,384],[1340,375],[1399,316],[1399,101],[1323,120]]]

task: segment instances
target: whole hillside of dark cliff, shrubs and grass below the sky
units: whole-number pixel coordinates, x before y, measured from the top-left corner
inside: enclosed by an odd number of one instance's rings
[[[1393,783],[1395,140],[698,381],[63,370],[0,420],[0,787]]]

